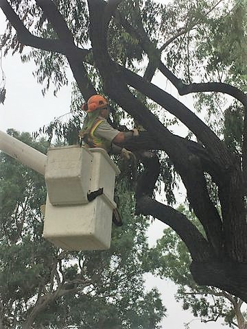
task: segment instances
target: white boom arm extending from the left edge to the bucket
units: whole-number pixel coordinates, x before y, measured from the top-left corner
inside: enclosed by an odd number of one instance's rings
[[[37,151],[33,147],[26,145],[18,139],[0,131],[0,150],[5,154],[12,156],[22,164],[27,165],[45,175],[45,166],[47,163],[47,156]]]

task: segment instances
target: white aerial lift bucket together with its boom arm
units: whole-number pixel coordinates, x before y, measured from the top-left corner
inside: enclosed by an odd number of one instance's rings
[[[45,239],[67,250],[110,247],[119,169],[104,149],[51,147],[45,156],[0,131],[0,150],[45,175]]]

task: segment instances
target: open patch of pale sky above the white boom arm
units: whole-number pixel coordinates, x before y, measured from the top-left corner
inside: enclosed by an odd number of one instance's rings
[[[6,98],[1,104],[0,130],[14,128],[32,132],[49,123],[54,117],[69,112],[70,88],[62,88],[58,97],[52,91],[43,97],[42,86],[32,75],[34,66],[23,64],[18,55],[3,58],[6,77]]]

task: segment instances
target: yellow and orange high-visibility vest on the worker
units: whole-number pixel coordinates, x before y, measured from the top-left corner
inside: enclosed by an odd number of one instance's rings
[[[111,142],[107,141],[106,138],[96,137],[94,135],[95,130],[102,122],[104,122],[104,120],[97,118],[89,132],[84,133],[82,139],[87,145],[89,145],[89,147],[101,147],[102,149],[105,149],[108,152],[110,150]]]

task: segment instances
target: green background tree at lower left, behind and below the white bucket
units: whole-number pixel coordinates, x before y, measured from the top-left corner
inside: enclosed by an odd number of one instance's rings
[[[47,151],[43,139],[8,132]],[[165,308],[158,291],[145,292],[143,285],[143,273],[150,271],[148,223],[130,215],[134,199],[123,184],[119,211],[125,223],[113,226],[110,249],[64,252],[42,236],[43,176],[0,154],[1,328],[160,328]]]

